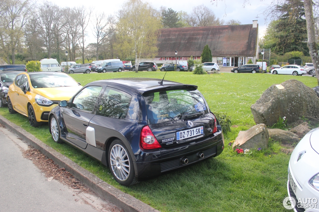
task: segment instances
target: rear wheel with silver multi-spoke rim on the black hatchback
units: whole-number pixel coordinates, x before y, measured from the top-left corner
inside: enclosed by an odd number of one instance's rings
[[[130,186],[138,182],[130,152],[120,139],[115,139],[108,149],[108,164],[114,179],[121,185]]]

